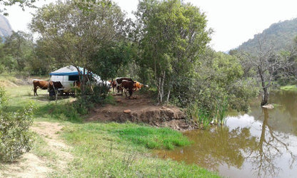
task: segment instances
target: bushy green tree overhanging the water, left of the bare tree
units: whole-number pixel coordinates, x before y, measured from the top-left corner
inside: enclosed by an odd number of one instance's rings
[[[257,95],[257,83],[243,77],[239,59],[211,48],[201,56],[191,82],[188,92],[180,98],[188,98],[183,103],[194,103],[212,117],[224,100],[227,107],[247,112],[250,99]]]

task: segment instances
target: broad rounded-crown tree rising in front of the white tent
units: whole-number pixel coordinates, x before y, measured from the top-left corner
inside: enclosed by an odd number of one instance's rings
[[[92,56],[110,42],[126,36],[126,21],[119,6],[109,0],[58,1],[39,9],[31,29],[41,35],[48,53],[57,62],[84,68],[94,66]]]

